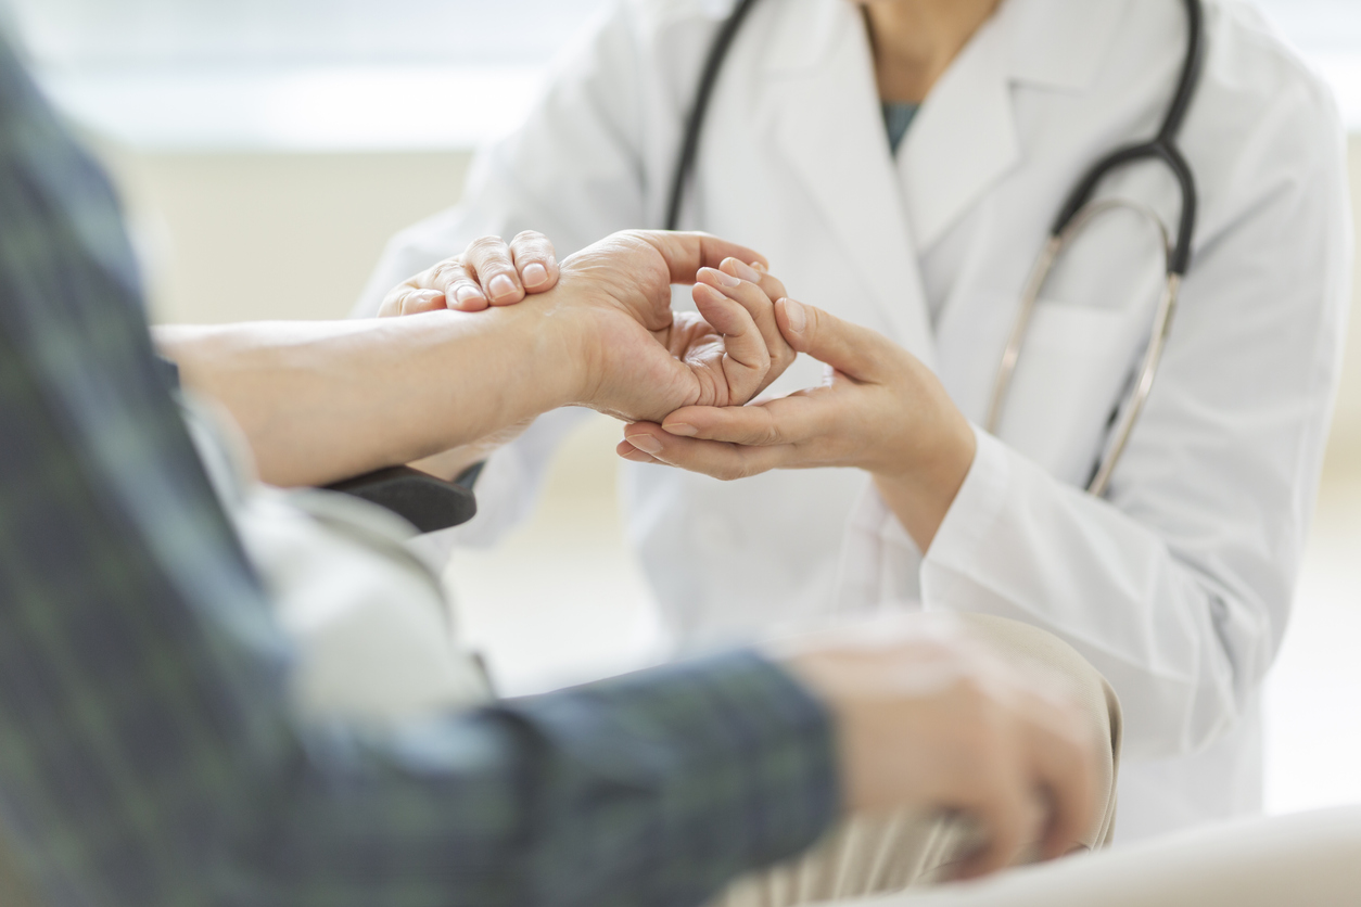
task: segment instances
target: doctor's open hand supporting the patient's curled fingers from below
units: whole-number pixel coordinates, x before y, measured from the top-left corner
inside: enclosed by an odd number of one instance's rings
[[[973,465],[969,422],[931,370],[887,337],[791,299],[776,314],[793,349],[829,366],[823,386],[627,426],[619,456],[724,480],[770,469],[864,469],[925,552]]]

